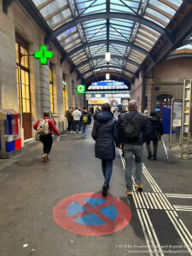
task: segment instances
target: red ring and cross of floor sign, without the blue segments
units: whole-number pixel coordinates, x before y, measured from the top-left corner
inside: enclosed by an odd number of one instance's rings
[[[106,200],[107,202],[101,205],[92,207],[87,202],[84,201],[85,198],[100,198]],[[67,213],[67,208],[73,203],[78,202],[83,207],[86,208],[84,212],[79,212],[69,216]],[[114,206],[116,207],[118,214],[116,218],[108,218],[102,212],[99,212],[103,207]],[[81,218],[82,216],[88,215],[90,213],[95,213],[100,219],[102,219],[105,224],[79,224],[74,221],[74,219]],[[53,218],[55,222],[61,226],[61,228],[71,231],[75,234],[84,236],[102,236],[110,233],[117,232],[125,228],[127,224],[131,221],[131,210],[123,201],[113,195],[108,195],[103,197],[101,193],[81,193],[76,195],[68,196],[67,198],[61,200],[54,208]]]

